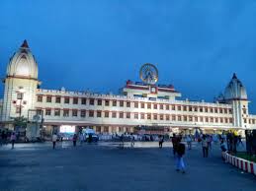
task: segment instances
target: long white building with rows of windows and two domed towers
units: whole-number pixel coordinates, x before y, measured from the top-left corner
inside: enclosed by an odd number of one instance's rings
[[[179,100],[173,86],[127,82],[121,95],[99,95],[40,88],[38,64],[25,40],[10,59],[0,100],[2,127],[30,113],[43,115],[47,131],[61,125],[90,126],[96,132],[134,132],[135,127],[217,131],[256,128],[246,90],[235,74],[215,102]]]

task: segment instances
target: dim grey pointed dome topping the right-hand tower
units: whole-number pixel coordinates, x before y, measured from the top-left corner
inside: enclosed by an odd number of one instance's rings
[[[225,99],[247,99],[247,93],[242,85],[241,81],[239,81],[235,74],[233,74],[233,78],[227,85],[224,91]]]

